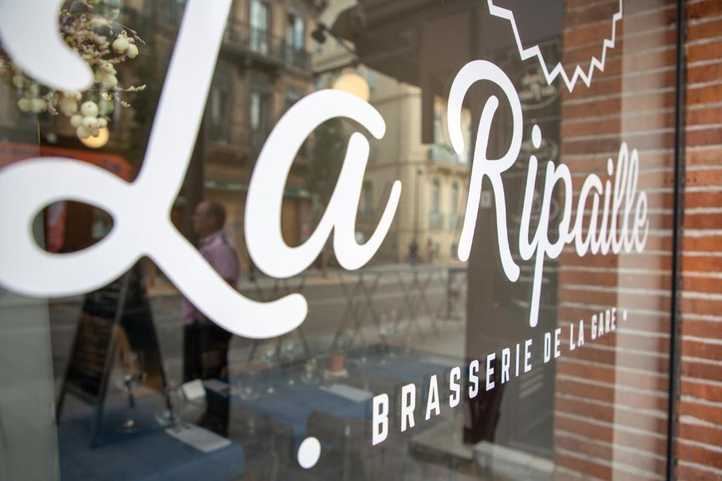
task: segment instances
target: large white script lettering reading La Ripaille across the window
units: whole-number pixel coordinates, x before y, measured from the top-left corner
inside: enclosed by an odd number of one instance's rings
[[[38,0],[33,12],[39,20],[35,23],[26,21],[27,9],[17,7],[18,2],[0,3],[0,40],[22,69],[38,81],[58,89],[78,89],[87,85],[88,69],[76,52],[55,40],[47,40],[45,50],[28,50],[27,46],[28,38],[48,39],[50,34],[46,30],[55,28],[57,3]],[[267,303],[246,298],[223,281],[170,221],[170,209],[191,159],[231,3],[232,0],[189,0],[186,4],[146,156],[134,182],[125,182],[100,167],[60,157],[27,159],[0,170],[2,286],[38,297],[84,294],[116,280],[147,255],[201,312],[236,335],[275,337],[303,322],[308,312],[303,296],[290,294]],[[59,69],[53,58],[66,69]],[[511,138],[508,151],[500,159],[487,158],[492,122],[500,102],[496,96],[489,97],[482,109],[474,145],[458,257],[464,261],[469,259],[482,181],[487,177],[495,196],[500,260],[506,277],[516,282],[520,268],[510,251],[503,174],[519,158],[523,112],[513,83],[502,69],[489,61],[466,64],[453,81],[448,101],[448,131],[458,154],[469,147],[464,145],[461,109],[469,88],[477,81],[491,81],[503,91],[511,111]],[[284,242],[280,212],[293,158],[316,126],[335,117],[355,120],[375,138],[381,138],[386,131],[380,113],[368,102],[352,94],[321,90],[291,107],[261,149],[248,187],[245,238],[258,268],[271,276],[287,278],[302,272],[318,257],[332,232],[334,251],[342,267],[360,268],[375,255],[391,226],[401,195],[398,180],[393,182],[373,235],[365,244],[355,240],[355,214],[370,149],[367,138],[356,132],[349,139],[345,158],[339,159],[343,162],[341,174],[316,231],[298,247]],[[539,149],[540,142],[541,131],[534,125],[532,144]],[[534,257],[531,327],[536,326],[539,317],[541,276],[547,258],[560,256],[571,242],[580,257],[589,251],[601,255],[622,250],[641,252],[649,231],[647,195],[637,191],[639,154],[622,143],[616,166],[612,159],[607,162],[609,179],[602,182],[592,173],[584,180],[574,217],[570,169],[563,163],[547,163],[539,222],[530,240],[538,166],[536,156],[531,155],[518,239],[519,257],[522,260]],[[557,186],[562,190],[563,208],[556,228],[558,235],[552,235],[552,239],[557,240],[551,242],[549,216]],[[32,222],[45,206],[59,200],[77,200],[103,208],[113,216],[113,229],[85,250],[64,255],[45,252],[32,237]],[[587,209],[591,211],[585,234]],[[612,325],[614,321],[612,318]],[[578,345],[583,343],[582,335],[580,330]],[[524,344],[524,372],[531,369],[530,347],[531,340]],[[519,358],[518,346],[516,358]],[[469,369],[470,395],[472,392],[476,395],[478,366],[477,371],[472,372],[472,366]],[[516,369],[518,374],[518,363]],[[487,388],[490,382],[493,384],[487,377]],[[413,418],[409,420],[412,424]]]

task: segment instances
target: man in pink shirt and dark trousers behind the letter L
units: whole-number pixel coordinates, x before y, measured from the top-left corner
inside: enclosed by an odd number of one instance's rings
[[[210,265],[235,288],[238,282],[238,253],[223,231],[225,208],[205,201],[193,213],[193,232],[199,237],[199,250]],[[183,380],[213,379],[224,376],[228,366],[230,332],[207,319],[186,299],[183,300]]]

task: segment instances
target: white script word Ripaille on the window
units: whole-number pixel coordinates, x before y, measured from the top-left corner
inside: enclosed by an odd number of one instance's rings
[[[501,159],[487,159],[487,145],[491,134],[492,120],[499,105],[499,100],[491,96],[482,110],[477,131],[477,144],[474,147],[474,164],[471,167],[471,180],[469,181],[469,198],[466,201],[466,216],[461,237],[458,242],[458,257],[461,260],[469,259],[471,241],[474,238],[474,229],[477,224],[479,211],[479,198],[482,192],[482,179],[487,176],[492,184],[495,196],[497,238],[499,244],[500,260],[507,278],[515,282],[519,277],[519,267],[514,262],[509,248],[507,235],[506,200],[502,174],[508,170],[518,159],[521,151],[521,129],[523,126],[523,112],[518,94],[513,88],[511,80],[504,71],[488,61],[472,61],[467,63],[456,75],[449,94],[448,132],[451,144],[457,154],[464,153],[464,137],[461,135],[461,106],[466,92],[476,81],[492,81],[501,87],[512,112],[512,134],[509,150]],[[541,131],[538,125],[532,129],[532,144],[539,148],[541,144]],[[622,247],[625,252],[632,248],[641,252],[647,239],[649,221],[647,219],[647,194],[637,193],[639,177],[639,154],[636,149],[629,154],[626,143],[622,143],[617,159],[617,170],[614,178],[614,193],[609,180],[604,188],[604,209],[601,216],[601,226],[597,229],[599,214],[599,196],[602,195],[602,184],[599,176],[590,174],[584,181],[578,200],[578,208],[574,224],[572,224],[572,176],[569,167],[560,163],[547,163],[547,172],[544,181],[544,190],[541,201],[541,212],[536,232],[529,241],[529,224],[531,223],[531,207],[534,203],[536,169],[538,167],[536,156],[529,158],[529,170],[526,176],[521,225],[519,226],[519,254],[523,260],[534,257],[534,283],[531,293],[531,309],[529,309],[529,325],[535,327],[539,319],[539,299],[541,297],[541,276],[544,273],[544,260],[555,259],[562,253],[566,244],[575,242],[578,255],[581,257],[591,248],[591,252],[606,255],[611,250],[618,254]],[[609,159],[607,170],[609,175],[614,172],[614,162]],[[552,193],[556,185],[563,187],[562,219],[557,227],[556,242],[549,242],[549,212],[552,208]],[[592,210],[586,238],[583,235],[583,221],[586,201],[593,195]],[[636,198],[636,201],[635,201]],[[619,213],[624,204],[621,227],[619,228]],[[630,213],[632,204],[636,203],[635,220],[630,231]],[[611,213],[610,213],[611,204]],[[619,236],[617,237],[617,231]],[[591,245],[590,245],[591,244]]]

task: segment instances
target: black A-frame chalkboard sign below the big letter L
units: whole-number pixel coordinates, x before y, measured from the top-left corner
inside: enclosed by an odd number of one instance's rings
[[[95,405],[92,445],[95,445],[100,430],[108,378],[118,350],[141,352],[144,358],[142,368],[147,374],[144,385],[166,395],[160,346],[138,265],[118,281],[85,296],[58,398],[58,423],[68,393]],[[166,404],[170,407],[167,395]]]

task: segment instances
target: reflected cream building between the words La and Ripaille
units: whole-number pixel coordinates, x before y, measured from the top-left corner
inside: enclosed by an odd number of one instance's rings
[[[361,2],[364,4],[364,2]],[[365,6],[365,5],[361,5]],[[363,79],[365,86],[350,87],[352,93],[367,97],[386,120],[386,134],[371,142],[370,159],[357,213],[359,237],[373,233],[393,180],[401,180],[399,207],[376,262],[406,262],[409,244],[415,239],[421,262],[448,263],[456,260],[458,235],[465,208],[469,155],[456,154],[446,130],[446,104],[441,96],[432,98],[432,128],[422,138],[423,89],[406,76],[378,68],[377,62],[397,55],[398,50],[373,53],[355,45],[339,25],[361,22],[361,6],[355,0],[334,0],[321,15],[331,32],[319,43],[313,56],[317,86],[344,89],[349,74]],[[363,9],[363,12],[366,12]],[[345,35],[345,37],[344,37]],[[375,35],[375,34],[373,34]],[[471,115],[464,110],[461,120],[466,141],[471,136]]]

